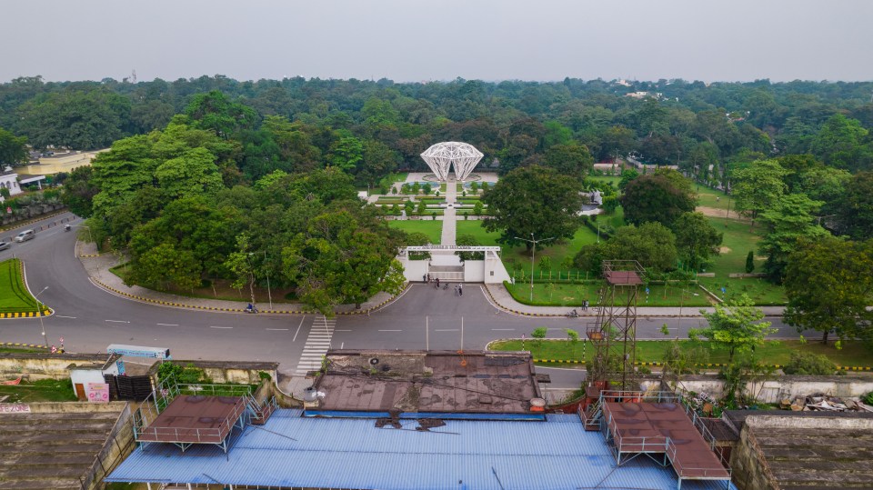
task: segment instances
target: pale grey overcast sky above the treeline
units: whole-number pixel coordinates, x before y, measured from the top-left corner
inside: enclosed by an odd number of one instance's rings
[[[873,80],[873,0],[4,0],[0,81]]]

